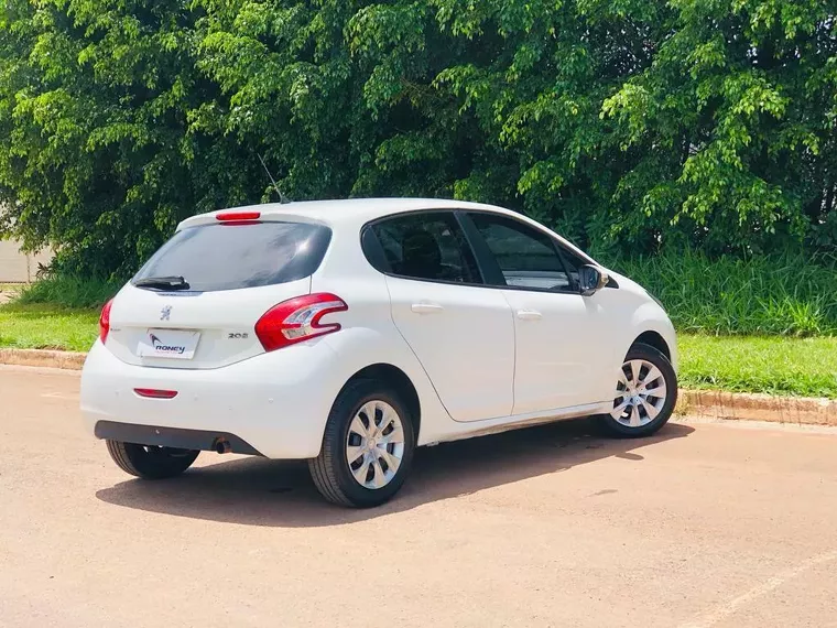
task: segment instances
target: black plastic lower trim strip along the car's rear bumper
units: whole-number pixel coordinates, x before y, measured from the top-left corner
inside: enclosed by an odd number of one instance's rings
[[[97,421],[94,434],[96,434],[97,438],[119,441],[120,443],[175,447],[178,450],[200,450],[203,452],[214,452],[218,441],[227,441],[230,444],[230,452],[233,454],[262,455],[250,443],[229,432]]]

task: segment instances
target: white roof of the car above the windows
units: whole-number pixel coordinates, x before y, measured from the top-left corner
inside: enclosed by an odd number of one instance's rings
[[[289,217],[334,226],[340,223],[367,223],[392,214],[422,209],[479,209],[513,214],[509,209],[494,205],[444,198],[344,198],[337,201],[301,201],[284,204],[265,203],[262,205],[248,205],[246,207],[230,207],[187,218],[180,224],[178,229],[208,223],[214,219],[216,214],[225,212],[260,212],[262,217]]]

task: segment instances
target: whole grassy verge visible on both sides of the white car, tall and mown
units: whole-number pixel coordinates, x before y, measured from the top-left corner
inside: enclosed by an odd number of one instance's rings
[[[609,266],[666,306],[681,332],[683,386],[837,398],[835,259],[686,252]],[[0,306],[0,346],[87,350],[98,310],[117,289],[74,278],[23,286]]]

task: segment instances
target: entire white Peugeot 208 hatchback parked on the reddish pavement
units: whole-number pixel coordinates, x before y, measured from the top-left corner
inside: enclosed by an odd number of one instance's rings
[[[81,410],[142,478],[307,459],[327,499],[376,506],[421,445],[589,414],[652,434],[676,358],[654,297],[513,212],[258,205],[184,220],[105,306]]]

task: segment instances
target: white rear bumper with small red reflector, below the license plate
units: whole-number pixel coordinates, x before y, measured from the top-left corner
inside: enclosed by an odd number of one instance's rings
[[[122,362],[97,340],[81,373],[81,414],[98,437],[120,440],[111,434],[121,430],[134,441],[143,437],[142,444],[184,446],[177,442],[186,435],[200,445],[188,448],[210,448],[207,438],[211,443],[232,435],[252,450],[241,453],[313,458],[319,454],[333,391],[343,383],[329,373],[335,361],[328,345],[312,342],[218,369],[150,368]],[[177,397],[142,398],[134,388],[176,390]],[[156,441],[153,429],[161,431]]]

